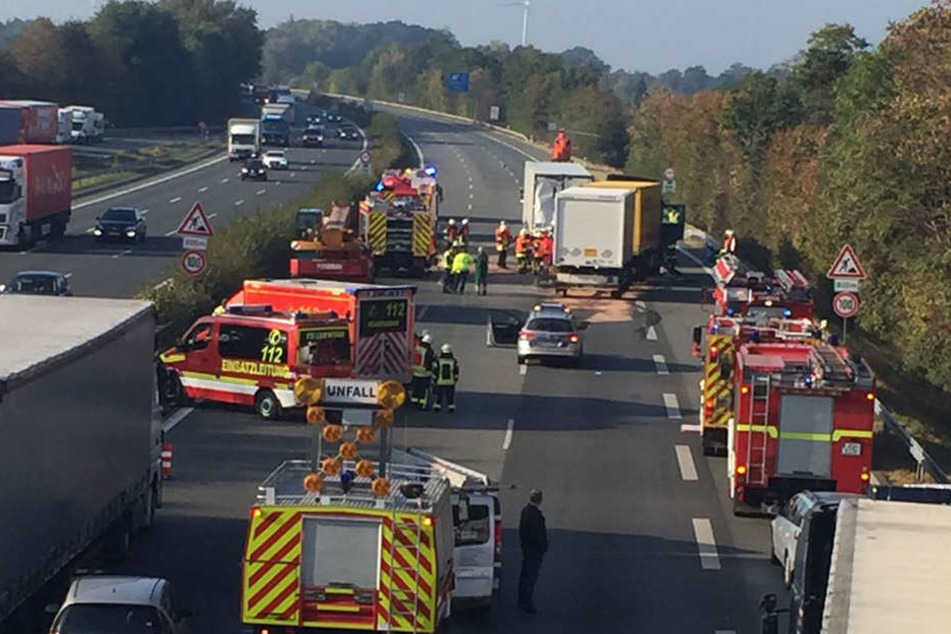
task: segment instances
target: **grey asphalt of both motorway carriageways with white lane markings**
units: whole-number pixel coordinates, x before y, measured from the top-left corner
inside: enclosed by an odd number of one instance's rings
[[[424,160],[439,166],[444,217],[470,218],[475,241],[486,244],[500,218],[520,218],[523,163],[541,153],[464,124],[402,114]],[[343,167],[355,152],[291,156],[294,179],[312,182],[322,166],[309,159]],[[235,173],[216,164],[110,201],[148,208],[155,243],[94,245],[85,229],[104,202],[77,214],[64,246],[3,254],[0,271],[54,268],[73,273],[77,292],[131,294],[176,256],[177,239],[163,233],[195,200],[218,214],[213,222],[224,222],[240,213],[239,200],[263,204],[302,191],[290,174],[276,186],[238,183]],[[769,562],[768,523],[733,517],[724,459],[704,457],[698,435],[682,429],[697,422],[700,372],[690,336],[706,316],[699,302],[706,278],[690,261],[681,265],[683,276],[658,279],[623,300],[567,300],[591,321],[578,369],[523,369],[513,349],[486,346],[488,310],[528,310],[538,300],[528,280],[495,271],[487,297],[471,289],[463,297],[443,295],[435,282],[419,283],[419,328],[437,345],[451,343],[460,359],[459,410],[401,414],[395,441],[503,484],[501,595],[488,612],[455,608],[449,631],[759,631],[759,597],[781,586]],[[174,478],[154,529],[135,543],[124,570],[170,578],[198,613],[192,631],[240,632],[248,509],[268,472],[306,456],[309,432],[299,419],[265,424],[249,411],[215,405],[180,410],[166,427]],[[515,606],[516,528],[532,488],[545,493],[551,548],[536,594],[540,613],[526,615]]]

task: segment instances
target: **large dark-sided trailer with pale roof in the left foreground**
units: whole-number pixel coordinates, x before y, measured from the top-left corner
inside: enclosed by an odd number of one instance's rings
[[[150,302],[0,295],[0,323],[2,624],[78,557],[124,557],[161,503],[162,429]]]

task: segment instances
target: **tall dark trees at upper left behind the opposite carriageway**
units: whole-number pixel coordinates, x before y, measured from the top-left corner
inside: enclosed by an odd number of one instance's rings
[[[232,0],[110,2],[88,21],[0,29],[0,97],[94,106],[120,126],[218,122],[260,72],[264,34]]]

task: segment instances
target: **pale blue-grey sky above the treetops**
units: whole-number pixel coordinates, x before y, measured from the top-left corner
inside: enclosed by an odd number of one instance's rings
[[[343,22],[402,20],[448,28],[467,46],[521,42],[524,2],[511,0],[239,0],[270,27],[293,15]],[[0,2],[0,20],[89,17],[102,0]],[[545,51],[585,46],[614,68],[652,73],[734,62],[766,68],[805,46],[827,22],[849,22],[878,43],[889,22],[927,0],[530,0],[528,41]],[[503,6],[506,4],[519,6]]]

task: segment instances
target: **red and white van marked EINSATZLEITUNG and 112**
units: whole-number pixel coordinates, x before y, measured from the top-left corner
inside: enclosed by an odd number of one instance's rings
[[[298,378],[353,372],[345,319],[268,305],[201,317],[159,359],[177,398],[253,405],[266,419],[301,406],[293,391]]]

